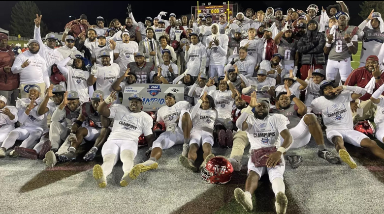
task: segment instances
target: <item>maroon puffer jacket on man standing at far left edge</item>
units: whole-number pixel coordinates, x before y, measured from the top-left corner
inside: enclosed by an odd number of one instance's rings
[[[12,68],[15,58],[11,46],[8,45],[5,49],[0,48],[0,91],[12,91],[19,87],[19,74],[13,74],[12,71],[4,72],[4,67]]]

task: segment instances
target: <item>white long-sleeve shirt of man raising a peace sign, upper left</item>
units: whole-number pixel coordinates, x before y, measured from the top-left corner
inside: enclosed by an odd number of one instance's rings
[[[43,41],[41,40],[40,27],[34,27],[33,38],[39,42],[39,55],[45,60],[47,66],[47,73],[50,77],[52,65],[58,64],[61,60],[63,60],[63,56],[56,49],[51,49],[48,46],[44,45]]]

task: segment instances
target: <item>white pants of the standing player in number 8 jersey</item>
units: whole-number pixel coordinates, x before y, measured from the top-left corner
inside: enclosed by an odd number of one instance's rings
[[[351,58],[347,58],[340,61],[328,59],[327,63],[327,80],[335,80],[337,72],[340,73],[342,81],[346,81],[348,76],[352,73]]]

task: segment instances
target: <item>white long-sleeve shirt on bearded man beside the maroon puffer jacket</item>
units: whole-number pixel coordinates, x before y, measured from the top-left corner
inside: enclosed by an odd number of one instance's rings
[[[21,65],[28,59],[29,66],[22,68]],[[47,63],[39,54],[32,54],[29,50],[19,54],[12,66],[12,73],[20,73],[20,84],[45,83],[49,87],[49,76],[47,73]]]

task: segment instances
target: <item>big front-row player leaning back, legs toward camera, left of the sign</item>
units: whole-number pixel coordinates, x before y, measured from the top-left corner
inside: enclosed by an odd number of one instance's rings
[[[113,166],[119,158],[123,162],[124,171],[120,186],[128,186],[138,176],[131,169],[133,159],[137,155],[139,136],[144,134],[149,147],[152,147],[154,141],[152,134],[153,119],[147,113],[141,111],[143,100],[140,95],[132,94],[128,98],[129,107],[120,104],[112,105],[116,99],[116,91],[112,91],[107,99],[97,107],[97,111],[102,116],[114,119],[112,133],[101,149],[104,162],[101,166],[96,164],[93,170],[93,176],[100,188],[107,186],[107,176],[111,174]]]

